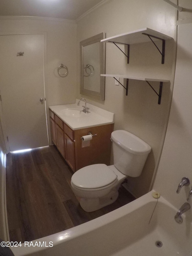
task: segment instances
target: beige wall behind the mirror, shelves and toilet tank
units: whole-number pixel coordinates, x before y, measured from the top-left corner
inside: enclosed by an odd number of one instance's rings
[[[175,1],[176,3],[176,1]],[[79,42],[101,32],[106,37],[148,27],[175,37],[176,9],[159,0],[114,0],[77,21],[77,98],[79,94]],[[158,43],[160,47],[161,42]],[[124,50],[124,47],[122,46]],[[130,63],[113,44],[106,45],[106,74],[131,74],[148,77],[163,76],[172,81],[174,40],[166,41],[165,64],[161,55],[150,43],[130,46]],[[123,82],[123,80],[121,80]],[[138,178],[129,178],[130,191],[139,197],[149,191],[154,169],[161,153],[164,132],[167,126],[169,101],[173,83],[164,84],[161,105],[158,96],[143,81],[129,80],[128,96],[125,89],[115,86],[113,78],[106,78],[105,101],[85,97],[98,107],[115,113],[114,129],[124,129],[146,141],[151,147],[143,172]],[[152,83],[158,91],[159,83]]]

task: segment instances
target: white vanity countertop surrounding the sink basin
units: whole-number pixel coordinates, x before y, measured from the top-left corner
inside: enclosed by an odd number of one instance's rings
[[[82,128],[88,128],[99,125],[107,125],[114,123],[114,113],[107,110],[95,107],[88,104],[90,113],[81,113],[81,117],[66,116],[64,110],[66,109],[79,109],[83,110],[82,105],[85,105],[84,101],[80,101],[80,106],[77,106],[78,99],[75,104],[50,106],[51,109],[58,117],[60,117],[72,130],[78,130]]]

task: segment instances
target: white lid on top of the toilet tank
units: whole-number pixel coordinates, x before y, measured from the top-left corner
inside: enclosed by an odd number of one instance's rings
[[[149,146],[145,141],[141,140],[139,137],[128,131],[113,131],[111,134],[111,138],[123,149],[134,155],[145,155],[151,152],[151,146]]]

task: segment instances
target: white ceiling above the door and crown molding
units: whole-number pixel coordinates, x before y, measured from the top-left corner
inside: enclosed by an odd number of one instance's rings
[[[76,20],[104,0],[0,0],[0,16],[35,16]]]

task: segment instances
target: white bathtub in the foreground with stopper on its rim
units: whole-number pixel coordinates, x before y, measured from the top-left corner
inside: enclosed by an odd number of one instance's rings
[[[178,209],[163,197],[157,202],[152,192],[97,219],[12,251],[15,256],[192,256],[191,210],[178,224],[174,220]]]

